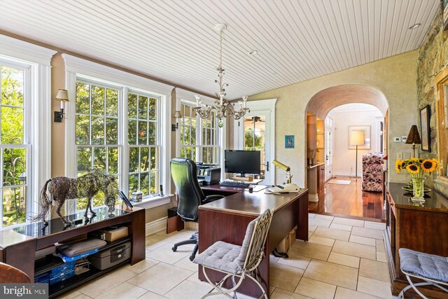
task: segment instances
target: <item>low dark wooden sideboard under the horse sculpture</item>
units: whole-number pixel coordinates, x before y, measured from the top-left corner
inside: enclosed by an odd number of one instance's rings
[[[39,271],[37,268],[40,266],[34,260],[36,251],[68,239],[85,237],[89,232],[113,225],[127,226],[128,228],[129,235],[123,239],[131,242],[132,249],[130,260],[123,263],[134,265],[145,259],[145,209],[139,207],[134,207],[134,211],[116,209],[113,215],[108,213],[106,207],[99,207],[94,211],[97,216],[91,218],[88,223],[73,224],[69,228],[65,228],[64,223],[59,218],[55,218],[51,219],[46,226],[42,222],[38,222],[20,228],[0,231],[0,262],[17,267],[25,272],[31,280],[34,280],[34,274]],[[81,212],[66,216],[66,218],[74,223],[76,219],[83,219],[83,214]],[[108,242],[101,249],[109,248],[124,241],[120,239],[117,242]],[[120,265],[121,263],[106,270],[92,270],[50,286],[50,298],[105,274]],[[43,265],[43,267],[45,268],[47,265]],[[48,267],[52,267],[52,265],[48,265]]]

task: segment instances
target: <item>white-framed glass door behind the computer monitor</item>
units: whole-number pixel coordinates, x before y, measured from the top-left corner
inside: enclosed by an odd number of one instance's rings
[[[275,102],[276,99],[247,102],[251,111],[235,120],[235,149],[261,152],[260,179],[263,185],[274,183]]]

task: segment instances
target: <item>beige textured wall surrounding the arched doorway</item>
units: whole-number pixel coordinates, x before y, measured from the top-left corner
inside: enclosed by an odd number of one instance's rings
[[[275,155],[291,167],[293,183],[305,186],[305,109],[309,99],[325,88],[343,84],[370,85],[386,97],[390,119],[389,180],[407,181],[405,175],[395,174],[393,162],[398,152],[410,153],[411,149],[409,145],[395,144],[391,140],[393,137],[407,136],[411,125],[416,124],[416,62],[417,51],[414,50],[250,97],[250,100],[277,98]],[[295,135],[295,148],[284,148],[284,135]],[[276,172],[277,175],[282,174]]]

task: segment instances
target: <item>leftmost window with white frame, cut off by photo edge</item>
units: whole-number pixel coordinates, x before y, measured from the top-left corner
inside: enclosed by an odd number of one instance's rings
[[[51,176],[55,53],[0,34],[0,230],[25,227],[36,216],[39,191]]]

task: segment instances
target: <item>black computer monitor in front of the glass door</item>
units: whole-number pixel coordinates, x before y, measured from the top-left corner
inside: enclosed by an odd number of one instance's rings
[[[224,168],[228,173],[260,174],[260,151],[224,151]]]

